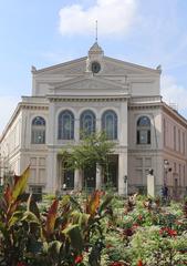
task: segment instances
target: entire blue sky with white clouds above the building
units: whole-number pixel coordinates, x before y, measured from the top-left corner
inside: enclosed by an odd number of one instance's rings
[[[0,0],[0,134],[37,69],[85,57],[95,41],[105,55],[162,65],[164,101],[187,119],[186,0]]]

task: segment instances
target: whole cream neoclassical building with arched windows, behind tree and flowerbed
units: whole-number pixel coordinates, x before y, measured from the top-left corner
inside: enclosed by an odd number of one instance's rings
[[[105,131],[115,142],[110,176],[120,194],[146,187],[154,170],[157,191],[187,187],[187,121],[162,101],[160,68],[150,69],[104,55],[95,42],[87,57],[37,70],[32,95],[22,96],[0,137],[1,177],[29,164],[29,190],[54,193],[101,188],[100,167],[64,171],[60,151],[77,145],[80,132]]]

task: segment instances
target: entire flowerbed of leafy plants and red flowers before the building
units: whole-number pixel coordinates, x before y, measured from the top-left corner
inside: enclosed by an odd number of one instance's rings
[[[0,201],[2,266],[185,266],[187,201],[94,192],[38,207],[23,197],[27,170]]]

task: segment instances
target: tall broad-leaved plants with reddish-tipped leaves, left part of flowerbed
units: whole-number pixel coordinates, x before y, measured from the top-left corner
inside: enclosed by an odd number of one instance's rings
[[[111,200],[103,202],[94,192],[82,207],[65,195],[42,213],[32,195],[27,204],[21,200],[28,176],[29,168],[12,187],[7,186],[0,202],[0,265],[86,265],[83,254],[87,248],[87,262],[100,263],[104,247],[101,221]]]

